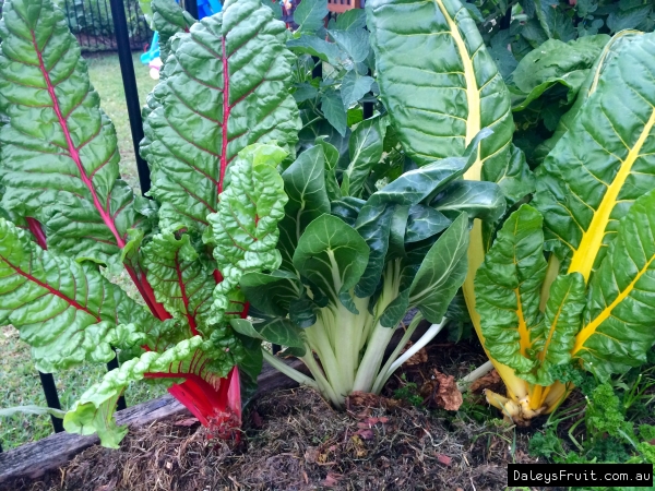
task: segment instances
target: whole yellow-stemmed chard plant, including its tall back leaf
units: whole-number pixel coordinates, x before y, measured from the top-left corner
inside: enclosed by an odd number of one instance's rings
[[[498,182],[509,212],[474,225],[463,285],[508,388],[489,403],[527,424],[572,390],[557,380],[562,366],[607,379],[645,361],[655,340],[654,35],[623,32],[605,45],[533,175],[512,143],[508,88],[464,5],[372,0],[367,19],[380,99],[419,166],[493,130],[464,175]]]

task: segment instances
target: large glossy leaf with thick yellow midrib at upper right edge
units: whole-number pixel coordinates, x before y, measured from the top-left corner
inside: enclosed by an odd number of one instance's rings
[[[546,158],[537,207],[546,240],[588,280],[634,200],[655,187],[655,35],[612,46],[596,88]]]

